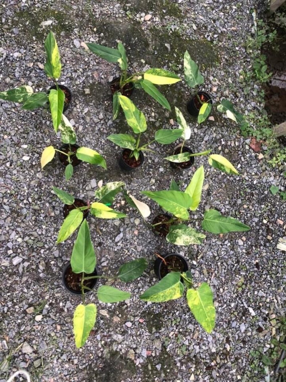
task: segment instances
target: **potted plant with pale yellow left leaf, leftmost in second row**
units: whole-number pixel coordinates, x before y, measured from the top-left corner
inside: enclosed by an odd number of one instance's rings
[[[102,155],[93,149],[79,147],[76,144],[76,133],[64,114],[62,115],[59,130],[61,131],[61,141],[63,142],[63,145],[59,147],[59,149],[55,149],[53,146],[48,146],[43,150],[41,156],[42,170],[45,165],[53,160],[56,152],[58,152],[59,161],[65,167],[64,174],[66,180],[69,180],[72,177],[74,167],[79,165],[82,161],[98,165],[106,170],[106,162]]]

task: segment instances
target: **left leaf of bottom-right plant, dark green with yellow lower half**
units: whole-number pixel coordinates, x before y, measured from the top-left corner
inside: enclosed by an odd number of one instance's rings
[[[143,295],[140,296],[140,299],[161,303],[182,297],[185,287],[183,283],[181,283],[180,277],[180,272],[168,273],[156,285],[147,289]]]

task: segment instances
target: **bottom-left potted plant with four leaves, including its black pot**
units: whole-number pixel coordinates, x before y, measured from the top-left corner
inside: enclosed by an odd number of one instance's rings
[[[96,305],[86,304],[85,295],[92,291],[99,278],[130,282],[140,277],[147,267],[147,261],[139,258],[127,262],[119,268],[115,276],[98,275],[96,272],[96,254],[90,238],[88,223],[84,220],[72,250],[71,262],[63,272],[63,283],[67,290],[82,297],[82,304],[77,305],[73,317],[73,331],[77,348],[84,346],[96,320]],[[129,299],[131,293],[110,285],[98,288],[97,298],[102,303],[117,303]]]

